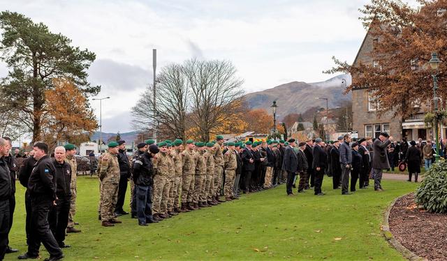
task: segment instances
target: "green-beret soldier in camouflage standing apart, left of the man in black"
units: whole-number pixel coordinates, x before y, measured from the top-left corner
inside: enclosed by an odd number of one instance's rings
[[[115,205],[118,199],[119,163],[118,143],[108,144],[108,151],[99,157],[98,177],[101,180],[101,221],[102,226],[115,226],[122,223],[115,219]]]

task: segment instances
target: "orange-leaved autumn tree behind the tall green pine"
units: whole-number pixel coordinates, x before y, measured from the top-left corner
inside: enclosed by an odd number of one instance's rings
[[[70,79],[53,79],[54,89],[45,90],[41,115],[43,141],[54,148],[59,142],[79,145],[89,141],[98,128],[89,101]]]

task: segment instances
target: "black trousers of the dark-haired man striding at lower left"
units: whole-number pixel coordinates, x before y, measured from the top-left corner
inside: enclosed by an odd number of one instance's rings
[[[28,254],[39,254],[41,243],[50,256],[62,255],[61,248],[54,239],[48,223],[48,214],[52,208],[52,199],[46,195],[31,195],[31,228],[29,233]]]

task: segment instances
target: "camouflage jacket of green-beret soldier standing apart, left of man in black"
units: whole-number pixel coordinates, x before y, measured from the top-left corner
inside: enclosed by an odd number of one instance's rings
[[[104,183],[119,183],[119,163],[117,155],[105,152],[99,157],[98,176]]]

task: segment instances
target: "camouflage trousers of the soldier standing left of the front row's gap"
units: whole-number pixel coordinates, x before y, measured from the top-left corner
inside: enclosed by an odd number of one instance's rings
[[[101,220],[109,221],[115,218],[115,205],[118,200],[118,184],[102,183],[101,184]]]

